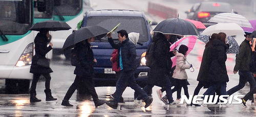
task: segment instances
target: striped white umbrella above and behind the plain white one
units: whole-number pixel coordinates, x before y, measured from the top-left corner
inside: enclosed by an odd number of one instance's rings
[[[252,28],[250,22],[244,16],[236,13],[219,13],[214,17],[210,18],[208,22],[237,23],[240,26]]]

